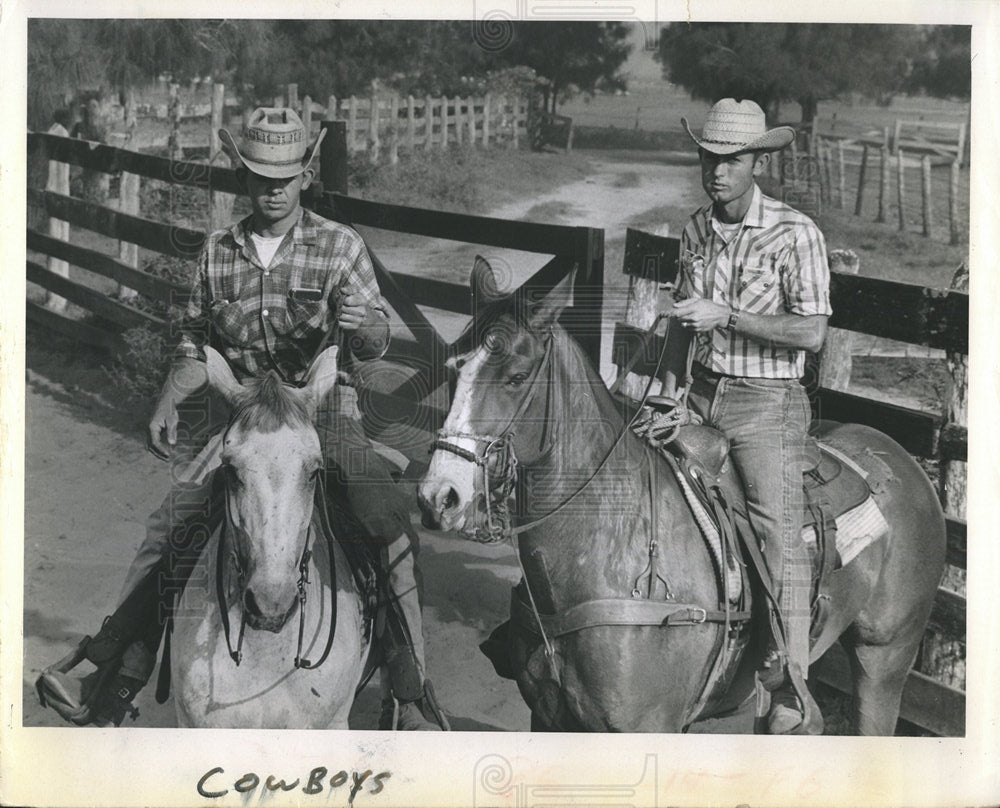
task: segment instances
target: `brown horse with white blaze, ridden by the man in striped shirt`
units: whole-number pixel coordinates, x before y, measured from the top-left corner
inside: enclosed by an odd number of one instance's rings
[[[524,578],[510,659],[532,728],[679,732],[732,710],[751,694],[758,660],[747,653],[729,692],[707,697],[734,628],[728,612],[705,618],[720,609],[718,563],[667,462],[627,428],[622,406],[557,322],[568,287],[537,304],[502,298],[477,259],[472,292],[476,316],[452,360],[454,399],[419,499],[425,524],[480,540],[504,535],[508,504],[517,511]],[[889,535],[838,570],[812,660],[839,636],[855,731],[891,735],[941,577],[944,518],[921,468],[890,438],[834,425],[823,441],[877,476]],[[668,617],[633,622],[629,601],[654,555],[649,588],[659,590],[640,604]],[[594,603],[602,619],[576,620]]]

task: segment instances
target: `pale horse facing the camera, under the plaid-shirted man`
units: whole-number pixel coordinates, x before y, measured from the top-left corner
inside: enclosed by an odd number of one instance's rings
[[[221,446],[227,518],[174,615],[178,724],[346,729],[369,643],[347,559],[314,516],[323,456],[313,421],[337,349],[298,389],[273,373],[241,385],[211,349],[208,373],[233,406]]]

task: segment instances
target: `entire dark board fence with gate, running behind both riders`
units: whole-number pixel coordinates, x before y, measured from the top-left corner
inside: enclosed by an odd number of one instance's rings
[[[345,193],[346,124],[343,121],[324,122],[323,126],[330,131],[320,154],[322,188],[308,197],[307,204],[324,215],[354,225],[551,255],[551,260],[526,284],[539,290],[551,288],[574,264],[577,265],[574,306],[568,324],[595,363],[599,362],[604,287],[603,230],[442,213],[350,197]],[[213,194],[234,194],[240,190],[235,172],[228,168],[167,160],[56,134],[29,134],[28,150],[29,153],[41,150],[53,161],[50,176],[58,172],[59,163],[71,163],[97,171],[121,173],[123,178],[137,175],[201,188]],[[55,220],[57,228],[51,232],[32,228],[27,231],[29,252],[45,258],[45,263],[29,258],[28,280],[50,293],[48,304],[27,301],[29,322],[111,350],[121,350],[121,334],[126,328],[167,328],[163,318],[149,314],[128,300],[97,292],[92,283],[71,278],[65,270],[68,264],[73,264],[159,303],[183,303],[188,292],[186,287],[142,271],[134,261],[123,259],[121,251],[111,255],[67,240],[65,231],[58,229],[59,222],[117,239],[123,245],[134,244],[182,259],[193,259],[197,255],[204,242],[204,232],[154,222],[135,212],[102,207],[57,190],[29,189],[28,202],[44,209]],[[676,239],[630,232],[624,269],[632,276],[632,296],[644,294],[647,301],[654,299],[651,290],[655,292],[660,280],[668,280],[676,272],[678,251]],[[450,346],[418,306],[470,314],[470,299],[464,285],[392,271],[374,253],[372,259],[384,294],[409,331],[406,335],[394,330],[388,359],[415,371],[400,384],[373,386],[361,392],[366,429],[373,437],[390,443],[385,438],[400,434],[399,428],[436,429],[448,406],[447,386],[442,383],[442,364]],[[643,285],[647,287],[645,293]],[[956,379],[960,377],[962,363],[968,354],[966,294],[834,274],[832,295],[836,312],[831,319],[832,326],[943,348],[954,359]],[[60,298],[81,307],[89,315],[82,320],[67,316],[58,310],[59,306],[52,305]],[[887,317],[887,311],[894,316]],[[637,350],[644,327],[639,321],[616,326],[613,355],[619,357],[619,363],[622,356]],[[958,386],[957,382],[956,389]],[[946,467],[943,478],[951,480],[949,485],[953,488],[959,485],[956,481],[961,479],[968,441],[963,404],[956,404],[946,423],[935,414],[882,404],[834,389],[820,390],[819,406],[825,418],[870,424],[894,437],[911,453],[939,459]],[[426,458],[426,442],[419,450],[415,444],[399,448],[411,457]],[[949,509],[948,563],[965,569],[964,504],[954,499],[946,503]],[[964,641],[965,616],[964,597],[941,590],[932,616],[932,628]],[[842,659],[833,652],[824,657],[820,666],[821,679],[843,687],[844,674]],[[961,690],[942,685],[919,672],[911,673],[902,711],[908,721],[938,734],[962,735],[964,709],[965,696]]]

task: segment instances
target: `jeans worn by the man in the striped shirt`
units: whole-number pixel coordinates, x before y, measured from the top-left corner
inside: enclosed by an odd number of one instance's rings
[[[809,669],[812,570],[802,541],[809,400],[797,379],[696,378],[688,406],[729,438],[750,524],[785,623],[789,661]]]

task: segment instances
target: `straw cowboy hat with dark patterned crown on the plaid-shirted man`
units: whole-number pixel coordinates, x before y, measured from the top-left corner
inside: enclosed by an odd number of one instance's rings
[[[302,119],[288,107],[258,107],[237,144],[229,130],[220,129],[223,148],[254,174],[272,179],[294,177],[309,168],[319,151],[326,130],[320,130],[312,146]]]

